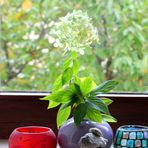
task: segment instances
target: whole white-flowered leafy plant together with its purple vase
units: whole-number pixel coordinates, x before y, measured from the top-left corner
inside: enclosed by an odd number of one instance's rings
[[[97,86],[91,77],[79,76],[80,56],[85,55],[87,48],[99,41],[98,31],[93,26],[92,19],[86,12],[74,10],[55,23],[50,35],[54,46],[63,49],[63,73],[55,80],[52,93],[42,100],[49,101],[48,109],[60,106],[57,113],[57,127],[62,126],[58,136],[61,147],[78,148],[80,135],[88,132],[90,127],[98,125],[103,126],[102,129],[106,126],[106,129],[109,129],[108,134],[112,136],[111,128],[107,124],[107,122],[116,122],[108,109],[112,100],[98,98],[97,94],[109,92],[117,85],[117,82],[109,80]],[[67,121],[70,115],[73,118]],[[66,132],[72,134],[69,128],[72,131],[80,130],[86,124],[90,126],[87,126],[87,130],[85,129],[85,132],[83,131],[79,136],[75,135],[74,143],[71,143],[70,139],[63,142],[62,135],[66,136]],[[65,134],[62,133],[64,131]],[[107,135],[107,131],[104,131],[104,134]]]

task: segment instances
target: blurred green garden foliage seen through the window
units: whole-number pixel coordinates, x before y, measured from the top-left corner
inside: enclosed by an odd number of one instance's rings
[[[99,84],[120,81],[116,91],[148,91],[147,0],[0,0],[1,90],[50,90],[61,73],[63,51],[49,31],[60,16],[87,11],[99,44],[81,58],[80,75]]]

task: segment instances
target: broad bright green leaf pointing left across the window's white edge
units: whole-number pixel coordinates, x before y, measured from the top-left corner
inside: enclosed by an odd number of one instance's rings
[[[53,92],[49,96],[49,100],[52,100],[54,102],[59,102],[59,103],[65,103],[72,99],[73,93],[74,92],[69,89],[59,90],[59,91]]]

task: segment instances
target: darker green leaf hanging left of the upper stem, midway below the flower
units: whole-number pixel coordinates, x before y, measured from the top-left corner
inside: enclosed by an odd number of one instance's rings
[[[64,85],[65,83],[69,82],[72,79],[72,75],[73,75],[73,69],[72,68],[67,68],[62,75],[62,85]]]

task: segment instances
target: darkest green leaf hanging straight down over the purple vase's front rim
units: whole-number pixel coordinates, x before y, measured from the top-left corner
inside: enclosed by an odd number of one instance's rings
[[[86,112],[87,112],[88,105],[85,103],[80,103],[74,111],[74,122],[76,126],[79,126],[80,123],[83,121]]]

